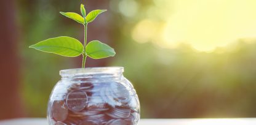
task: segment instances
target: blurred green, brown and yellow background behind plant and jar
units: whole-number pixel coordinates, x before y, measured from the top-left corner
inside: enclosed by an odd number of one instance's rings
[[[116,56],[87,67],[123,66],[137,90],[142,118],[256,117],[254,0],[2,0],[0,119],[46,117],[59,70],[81,67],[29,49],[44,39],[82,40],[83,26],[60,11],[108,9],[89,24]]]

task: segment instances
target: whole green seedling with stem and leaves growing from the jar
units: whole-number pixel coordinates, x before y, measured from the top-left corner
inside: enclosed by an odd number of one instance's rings
[[[87,44],[87,25],[94,21],[100,13],[106,10],[92,10],[86,15],[86,9],[81,4],[82,16],[73,12],[60,12],[65,17],[71,18],[84,25],[84,45],[72,37],[60,36],[46,40],[42,40],[37,44],[31,45],[30,48],[44,51],[47,53],[55,53],[61,56],[76,57],[82,55],[82,68],[86,65],[86,58],[89,56],[93,59],[107,58],[114,56],[116,52],[110,46],[103,44],[99,40],[92,40]]]

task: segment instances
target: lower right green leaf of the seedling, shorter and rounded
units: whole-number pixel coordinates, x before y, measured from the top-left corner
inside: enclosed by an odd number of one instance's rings
[[[116,55],[116,52],[110,46],[103,44],[98,40],[93,40],[86,46],[86,55],[93,59],[101,59],[114,56]]]

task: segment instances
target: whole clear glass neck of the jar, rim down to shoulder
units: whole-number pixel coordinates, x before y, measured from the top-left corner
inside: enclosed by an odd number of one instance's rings
[[[62,79],[70,78],[119,78],[124,72],[123,67],[88,67],[84,69],[60,70]]]

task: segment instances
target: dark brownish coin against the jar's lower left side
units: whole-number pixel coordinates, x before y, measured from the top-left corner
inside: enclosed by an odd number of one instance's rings
[[[68,116],[68,108],[66,107],[64,100],[54,100],[51,112],[56,121],[65,121]]]

